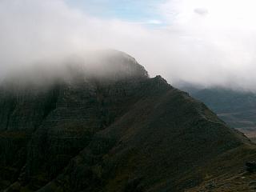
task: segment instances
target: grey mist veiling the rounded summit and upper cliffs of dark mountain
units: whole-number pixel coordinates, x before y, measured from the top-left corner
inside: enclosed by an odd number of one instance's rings
[[[126,78],[148,78],[143,66],[130,55],[118,50],[94,50],[71,55],[54,62],[36,62],[12,70],[1,86],[11,90],[38,90],[55,84],[73,84],[94,79],[113,82]]]

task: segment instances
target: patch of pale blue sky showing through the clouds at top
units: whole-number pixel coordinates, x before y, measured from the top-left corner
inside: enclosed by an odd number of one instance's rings
[[[164,23],[158,6],[165,0],[65,0],[69,6],[102,18],[118,18],[146,25]]]

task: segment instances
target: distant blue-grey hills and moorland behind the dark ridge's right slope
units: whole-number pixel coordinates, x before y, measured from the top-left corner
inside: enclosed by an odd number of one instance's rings
[[[256,141],[256,94],[225,88],[185,88],[194,98],[206,103],[218,117]]]

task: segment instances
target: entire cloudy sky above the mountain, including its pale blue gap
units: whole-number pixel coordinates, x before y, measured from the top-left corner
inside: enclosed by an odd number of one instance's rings
[[[1,0],[0,75],[122,50],[170,83],[256,90],[254,0]]]

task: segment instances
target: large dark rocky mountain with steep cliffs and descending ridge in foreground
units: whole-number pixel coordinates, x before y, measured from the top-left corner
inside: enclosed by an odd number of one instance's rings
[[[106,61],[114,65],[106,76],[74,67],[73,78],[47,87],[2,86],[1,191],[218,191],[226,180],[223,191],[256,187],[244,167],[256,148],[243,134],[130,56]]]

